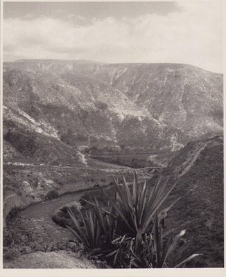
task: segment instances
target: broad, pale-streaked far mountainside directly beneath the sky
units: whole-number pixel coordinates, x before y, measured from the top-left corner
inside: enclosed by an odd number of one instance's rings
[[[3,81],[5,118],[67,145],[177,150],[223,130],[222,75],[195,66],[19,60]]]

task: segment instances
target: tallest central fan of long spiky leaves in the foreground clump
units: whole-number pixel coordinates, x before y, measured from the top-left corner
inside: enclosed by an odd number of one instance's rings
[[[119,184],[116,179],[114,179],[114,182],[118,201],[112,200],[105,193],[105,190],[103,190],[103,194],[114,207],[118,220],[127,227],[127,232],[136,237],[136,245],[139,247],[141,236],[150,231],[155,220],[155,214],[159,211],[159,208],[161,208],[176,184],[171,186],[171,188],[166,188],[167,182],[162,184],[162,179],[160,178],[152,190],[148,192],[146,181],[144,181],[144,184],[139,184],[135,171],[132,193],[130,193],[130,188],[124,177],[122,184]],[[164,208],[161,211],[162,215],[166,215],[179,199],[180,197],[171,206]]]

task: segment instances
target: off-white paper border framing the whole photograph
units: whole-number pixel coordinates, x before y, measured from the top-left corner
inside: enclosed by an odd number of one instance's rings
[[[76,2],[74,0],[67,0],[67,1],[62,1],[62,0],[40,0],[40,1],[29,1],[29,0],[0,0],[1,1],[1,55],[0,55],[0,62],[1,62],[1,101],[0,101],[0,132],[1,132],[1,148],[0,151],[2,153],[2,96],[3,96],[3,91],[2,91],[2,69],[3,69],[3,2]],[[80,2],[86,1],[86,0],[80,0]],[[94,0],[88,0],[87,2],[95,2]],[[96,0],[96,2],[100,2],[101,0]],[[114,2],[118,2],[121,0],[114,0]],[[123,0],[123,1],[131,1],[131,0]],[[132,0],[134,1],[134,0]],[[132,2],[131,1],[131,2]],[[140,1],[140,0],[137,0]],[[142,0],[141,0],[142,1]],[[161,2],[161,0],[154,0],[155,2]],[[171,0],[164,0],[164,1],[171,1]],[[193,0],[175,0],[177,2],[179,1],[193,1]],[[196,1],[196,0],[195,0]],[[202,2],[208,2],[208,1],[223,1],[223,62],[224,62],[224,111],[226,109],[226,104],[225,104],[225,84],[226,84],[226,71],[225,71],[225,65],[226,65],[226,0],[200,0]],[[78,1],[79,2],[79,1]],[[111,2],[111,0],[105,0],[105,2]],[[135,2],[135,1],[134,1]],[[148,2],[148,0],[143,0],[143,2]],[[226,146],[225,146],[225,127],[226,127],[226,115],[224,112],[224,157],[225,157],[225,151],[226,151]],[[3,251],[3,238],[2,238],[2,226],[3,226],[3,216],[2,216],[2,210],[3,210],[3,188],[2,188],[2,154],[1,154],[1,221],[0,221],[0,226],[1,226],[1,240],[0,240],[0,250],[1,250],[1,255],[0,255],[0,277],[1,276],[23,276],[23,277],[31,277],[31,276],[54,276],[54,277],[75,277],[75,276],[98,276],[98,277],[116,277],[116,276],[123,276],[123,277],[200,277],[200,276],[205,276],[205,277],[221,277],[221,276],[226,276],[226,267],[224,268],[205,268],[205,269],[196,269],[196,268],[191,268],[191,269],[3,269],[3,262],[2,262],[2,251]],[[225,171],[226,170],[226,164],[224,163],[224,181],[226,181],[225,177]],[[224,208],[226,206],[226,193],[224,189]],[[224,215],[224,223],[225,222],[225,215]],[[226,224],[224,224],[225,226]],[[225,240],[226,240],[226,231],[224,231],[225,234]],[[225,243],[225,248],[226,248],[226,243]],[[226,257],[225,257],[225,264],[226,264]]]

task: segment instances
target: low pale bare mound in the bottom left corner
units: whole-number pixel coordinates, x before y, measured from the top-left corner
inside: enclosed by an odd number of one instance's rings
[[[92,269],[96,266],[87,260],[70,251],[56,252],[35,252],[22,255],[10,262],[4,262],[4,268],[21,269]]]

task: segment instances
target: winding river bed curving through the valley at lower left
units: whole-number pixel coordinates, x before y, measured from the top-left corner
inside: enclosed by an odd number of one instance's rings
[[[111,169],[110,166],[109,169]],[[118,174],[122,173],[121,170],[122,168],[114,168],[114,172]],[[133,170],[131,168],[123,168],[124,170],[127,175],[132,177]],[[101,188],[110,187],[110,180],[113,181],[112,174],[106,173],[104,170],[103,172],[105,172],[105,179],[102,178],[101,182],[95,179],[89,180],[85,189],[82,183],[80,185],[71,184],[73,191],[63,191],[58,197],[44,199],[21,208],[14,218],[8,220],[7,228],[4,228],[4,262],[37,251],[79,251],[79,245],[74,240],[73,234],[68,229],[55,224],[52,216],[62,206],[78,202],[82,195],[99,190],[100,188],[94,188],[96,184]],[[141,175],[140,180],[152,176],[150,173],[144,174]],[[101,174],[97,177],[101,179]],[[76,191],[74,191],[75,189]]]

